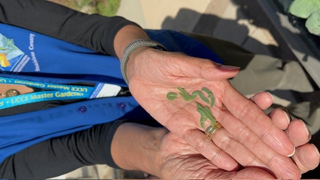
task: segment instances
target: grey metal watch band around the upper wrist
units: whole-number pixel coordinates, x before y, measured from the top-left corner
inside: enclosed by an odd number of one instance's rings
[[[129,59],[130,54],[137,48],[142,47],[142,46],[150,46],[153,48],[157,48],[160,50],[165,50],[166,48],[159,42],[151,40],[151,39],[136,39],[132,42],[130,42],[123,51],[120,63],[121,63],[121,74],[123,76],[123,79],[126,84],[129,84],[129,81],[126,77],[126,62]]]

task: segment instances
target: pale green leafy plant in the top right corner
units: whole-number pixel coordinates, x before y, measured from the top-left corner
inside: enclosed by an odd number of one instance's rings
[[[320,35],[320,0],[293,0],[288,12],[304,18],[305,27],[315,35]]]

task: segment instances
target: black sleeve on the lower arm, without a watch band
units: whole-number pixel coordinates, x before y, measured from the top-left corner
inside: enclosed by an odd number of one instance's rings
[[[94,125],[23,149],[0,163],[0,178],[42,179],[92,164],[117,167],[111,157],[110,144],[123,121]]]

